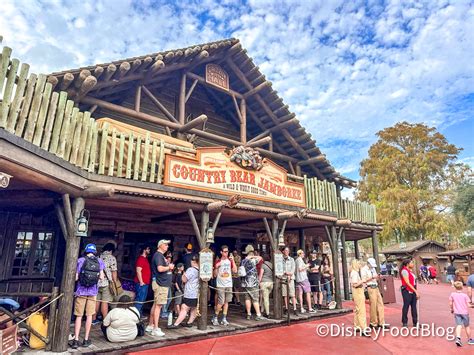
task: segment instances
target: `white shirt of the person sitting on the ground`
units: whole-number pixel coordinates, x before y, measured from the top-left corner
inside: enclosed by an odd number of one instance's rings
[[[107,338],[113,343],[134,340],[137,337],[138,309],[114,308],[104,319]]]

